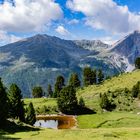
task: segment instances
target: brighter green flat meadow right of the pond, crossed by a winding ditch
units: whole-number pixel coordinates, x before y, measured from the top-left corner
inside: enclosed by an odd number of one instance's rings
[[[140,127],[140,115],[129,112],[106,112],[103,114],[81,115],[77,117],[77,120],[78,127],[82,129]]]

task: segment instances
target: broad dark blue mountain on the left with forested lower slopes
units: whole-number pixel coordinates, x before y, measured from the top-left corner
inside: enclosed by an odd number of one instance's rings
[[[119,72],[111,62],[95,57],[99,53],[97,48],[103,49],[108,45],[96,41],[88,41],[84,43],[86,44],[92,50],[85,48],[83,43],[76,44],[54,36],[36,35],[2,46],[0,77],[6,86],[16,83],[24,97],[30,97],[34,86],[40,85],[46,90],[48,84],[54,85],[58,75],[63,75],[67,81],[71,72],[81,75],[86,65],[102,68],[107,75]]]

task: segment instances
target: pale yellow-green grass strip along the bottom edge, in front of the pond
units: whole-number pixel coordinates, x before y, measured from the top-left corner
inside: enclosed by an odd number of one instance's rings
[[[19,132],[14,135],[5,135],[21,140],[139,140],[140,128],[101,128]],[[3,137],[4,138],[4,137]]]

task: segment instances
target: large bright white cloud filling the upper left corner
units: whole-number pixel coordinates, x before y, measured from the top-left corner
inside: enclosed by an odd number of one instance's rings
[[[0,5],[0,30],[7,32],[41,31],[51,21],[62,17],[54,0],[14,0]]]

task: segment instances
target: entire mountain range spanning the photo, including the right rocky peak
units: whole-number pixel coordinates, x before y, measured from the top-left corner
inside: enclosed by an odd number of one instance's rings
[[[60,74],[67,82],[70,73],[81,75],[85,66],[101,68],[106,75],[132,71],[138,56],[139,31],[114,45],[100,40],[64,40],[38,34],[0,47],[0,77],[7,86],[16,83],[24,97],[30,97],[34,86],[46,89]]]

